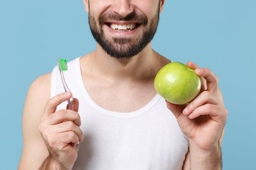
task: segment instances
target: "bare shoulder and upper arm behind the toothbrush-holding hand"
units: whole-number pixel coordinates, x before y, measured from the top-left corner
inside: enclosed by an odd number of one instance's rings
[[[38,169],[48,155],[38,125],[50,98],[51,75],[47,73],[36,78],[27,92],[22,115],[23,149],[18,170]]]

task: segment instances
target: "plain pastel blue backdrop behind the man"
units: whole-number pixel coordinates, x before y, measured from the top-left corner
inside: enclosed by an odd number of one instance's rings
[[[18,167],[31,82],[58,57],[70,61],[95,45],[82,0],[0,0],[0,170]],[[223,170],[255,169],[256,0],[166,0],[152,45],[218,75],[229,110]]]

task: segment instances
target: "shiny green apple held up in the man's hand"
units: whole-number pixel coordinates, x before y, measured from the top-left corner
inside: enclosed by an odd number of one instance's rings
[[[195,70],[181,62],[171,62],[162,67],[155,77],[155,90],[168,102],[187,104],[200,92],[201,78]]]

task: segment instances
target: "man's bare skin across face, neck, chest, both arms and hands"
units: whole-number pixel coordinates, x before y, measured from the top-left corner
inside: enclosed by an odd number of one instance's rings
[[[156,10],[158,2],[90,0],[90,13],[97,17],[110,10],[124,17],[137,10],[146,15],[150,22],[152,9]],[[161,13],[164,0],[160,2]],[[85,10],[89,12],[88,0],[84,0],[84,4]],[[110,39],[138,38],[143,27],[130,33],[117,33],[103,26],[103,31]],[[151,42],[130,58],[111,57],[97,44],[95,51],[80,59],[83,83],[92,100],[103,108],[117,112],[135,111],[148,104],[156,95],[153,83],[155,75],[169,62],[151,48]],[[199,68],[192,62],[187,65],[202,77],[200,95],[184,106],[166,102],[189,139],[190,147],[183,170],[218,170],[221,167],[220,144],[227,119],[218,77],[209,69]],[[69,99],[71,94],[61,93],[50,99],[50,83],[51,73],[47,73],[38,77],[29,87],[22,117],[24,141],[18,170],[71,170],[77,158],[74,146],[78,141],[83,141],[83,132],[79,128],[79,101],[74,99],[74,111],[56,111],[58,104]],[[141,101],[142,97],[145,100]],[[106,98],[113,102],[106,102]]]

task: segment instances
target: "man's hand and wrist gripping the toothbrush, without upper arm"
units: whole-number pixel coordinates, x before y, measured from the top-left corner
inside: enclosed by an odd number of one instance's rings
[[[70,92],[61,93],[49,99],[45,106],[38,130],[45,140],[49,156],[45,159],[40,170],[50,169],[47,165],[51,164],[61,169],[71,170],[77,159],[75,146],[79,141],[83,141],[83,132],[79,127],[81,119],[77,113],[79,102],[74,98],[74,110],[56,111],[59,104],[71,97]]]

